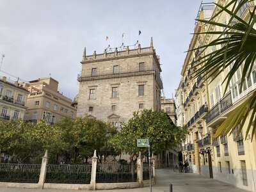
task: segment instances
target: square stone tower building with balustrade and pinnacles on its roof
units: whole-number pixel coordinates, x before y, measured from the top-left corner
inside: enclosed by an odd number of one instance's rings
[[[87,114],[118,127],[133,111],[161,110],[163,83],[152,38],[150,47],[122,46],[90,56],[84,48],[81,64],[77,116]]]

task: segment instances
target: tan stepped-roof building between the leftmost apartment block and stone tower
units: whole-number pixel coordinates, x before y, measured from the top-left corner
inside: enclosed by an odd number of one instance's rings
[[[72,104],[72,99],[58,92],[58,81],[52,77],[29,81],[28,90],[24,120],[47,120],[49,124],[53,124],[60,122],[64,116],[76,118],[76,107]]]

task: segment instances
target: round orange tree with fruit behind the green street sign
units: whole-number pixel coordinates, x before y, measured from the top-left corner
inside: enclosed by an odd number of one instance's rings
[[[184,140],[187,130],[172,124],[172,121],[163,111],[144,109],[136,111],[133,117],[120,126],[120,131],[111,140],[116,150],[131,154],[131,161],[140,150],[147,152],[147,148],[138,148],[136,140],[147,138],[150,141],[151,151],[155,154],[168,150]]]

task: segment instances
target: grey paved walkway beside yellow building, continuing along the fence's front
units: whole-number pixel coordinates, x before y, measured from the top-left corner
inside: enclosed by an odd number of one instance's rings
[[[230,184],[214,179],[206,179],[194,173],[173,172],[172,169],[157,169],[156,184],[152,186],[152,192],[169,192],[170,184],[173,184],[173,192],[246,192]],[[20,188],[0,188],[0,192],[79,192],[82,190],[58,190],[58,189],[20,189]],[[89,192],[83,190],[83,192]],[[99,190],[99,192],[148,192],[147,188],[136,189],[113,189]],[[248,192],[248,191],[247,191]]]

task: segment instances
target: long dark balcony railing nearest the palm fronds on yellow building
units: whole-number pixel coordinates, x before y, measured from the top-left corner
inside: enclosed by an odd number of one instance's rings
[[[220,116],[221,113],[226,111],[232,106],[231,93],[229,92],[225,97],[223,97],[206,115],[206,124],[211,122],[217,116]]]

